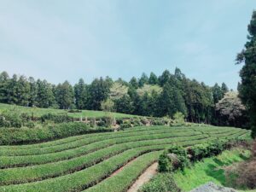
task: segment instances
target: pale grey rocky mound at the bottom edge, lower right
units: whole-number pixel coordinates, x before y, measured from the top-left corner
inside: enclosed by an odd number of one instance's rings
[[[191,190],[190,192],[236,192],[236,190],[218,186],[215,183],[209,182]]]

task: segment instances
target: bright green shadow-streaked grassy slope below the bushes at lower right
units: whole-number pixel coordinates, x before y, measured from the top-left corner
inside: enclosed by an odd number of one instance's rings
[[[243,149],[233,149],[224,151],[217,157],[207,158],[201,162],[195,163],[190,169],[186,168],[184,172],[176,172],[174,179],[177,186],[184,191],[195,189],[201,184],[212,181],[219,185],[225,185],[224,166],[230,166],[235,162],[247,160],[249,151]]]

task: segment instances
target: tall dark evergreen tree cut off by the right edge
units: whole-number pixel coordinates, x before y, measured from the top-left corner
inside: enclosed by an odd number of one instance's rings
[[[252,136],[256,137],[256,11],[247,27],[249,35],[245,49],[237,55],[237,63],[244,62],[240,71],[241,86],[239,96],[248,109],[252,124]]]

